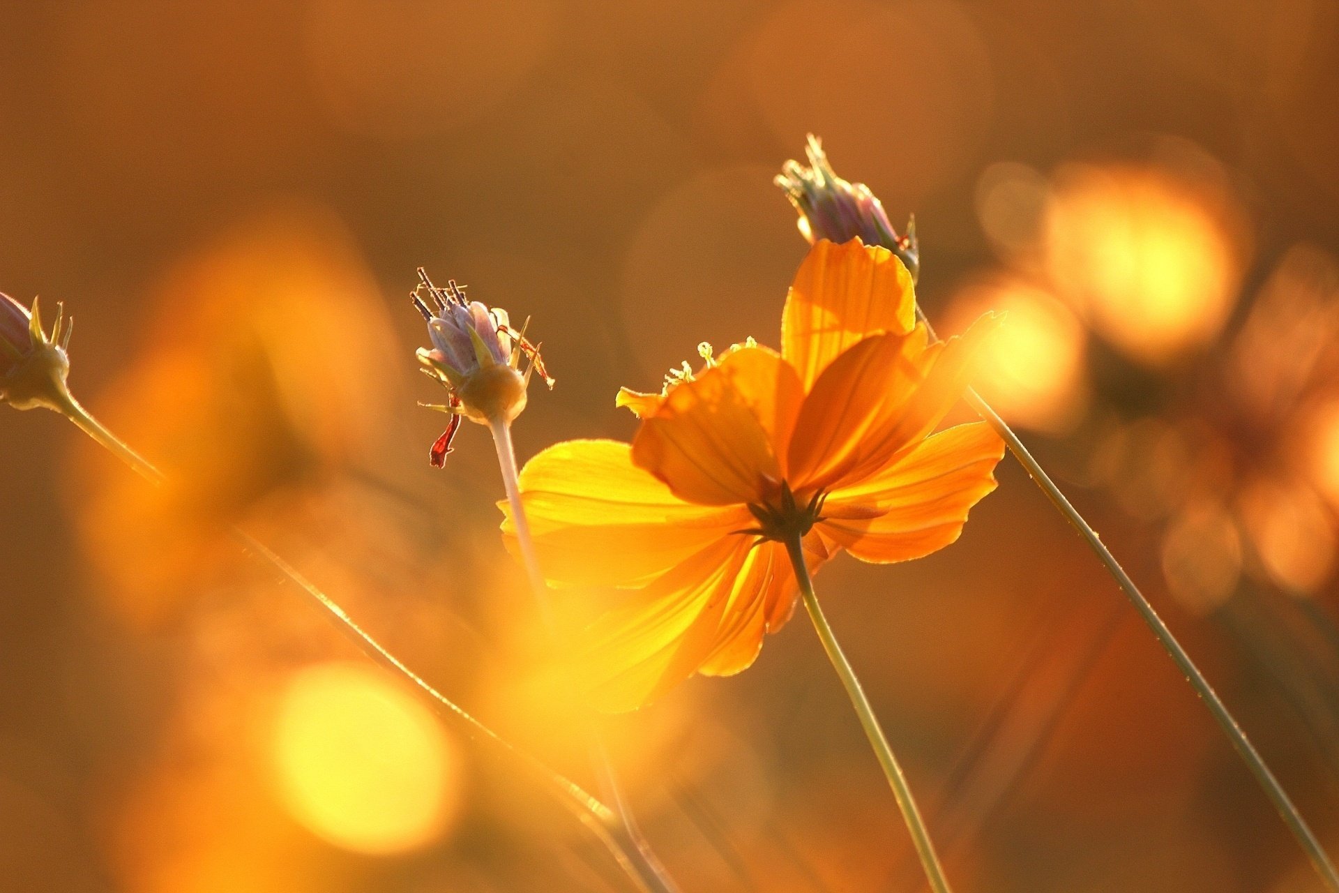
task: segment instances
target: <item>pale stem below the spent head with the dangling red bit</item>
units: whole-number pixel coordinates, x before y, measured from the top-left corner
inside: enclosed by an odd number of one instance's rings
[[[507,422],[494,422],[489,426],[489,431],[493,434],[493,446],[498,454],[502,486],[506,490],[507,503],[511,506],[511,523],[516,527],[516,540],[521,549],[521,564],[525,565],[525,573],[530,580],[530,590],[534,594],[540,617],[544,620],[550,639],[557,641],[558,625],[553,602],[549,600],[549,584],[545,582],[544,572],[540,569],[540,558],[534,550],[534,538],[530,536],[530,521],[525,514],[525,502],[521,499],[516,449],[511,444],[511,426]],[[670,872],[660,862],[655,850],[651,849],[651,842],[641,833],[641,826],[637,825],[636,817],[623,797],[619,777],[613,771],[613,763],[609,760],[609,751],[604,746],[604,738],[596,728],[590,730],[590,766],[600,781],[601,793],[613,805],[624,834],[627,834],[636,854],[640,857],[643,880],[656,893],[678,893],[679,888],[675,885]]]

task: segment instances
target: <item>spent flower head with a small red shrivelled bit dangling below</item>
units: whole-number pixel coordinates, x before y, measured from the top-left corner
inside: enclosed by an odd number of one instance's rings
[[[465,287],[454,278],[446,288],[438,288],[423,268],[418,274],[411,299],[432,340],[431,348],[418,349],[418,359],[423,372],[447,391],[447,402],[431,408],[451,415],[446,431],[432,444],[432,465],[441,467],[451,451],[461,416],[479,424],[509,424],[525,410],[530,376],[538,372],[550,390],[553,378],[544,368],[540,345],[525,337],[526,325],[520,331],[511,328],[506,311],[469,300]]]

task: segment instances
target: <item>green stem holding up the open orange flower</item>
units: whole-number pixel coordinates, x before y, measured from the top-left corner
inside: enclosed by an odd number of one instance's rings
[[[818,639],[823,643],[828,660],[832,661],[833,669],[837,671],[842,685],[846,687],[846,695],[850,698],[852,707],[856,708],[860,724],[865,730],[865,738],[869,739],[869,746],[873,748],[874,756],[878,758],[878,764],[888,778],[888,785],[893,789],[893,797],[897,798],[897,807],[902,811],[902,821],[907,822],[907,830],[912,834],[912,843],[916,845],[916,854],[925,869],[925,877],[929,880],[931,889],[935,893],[949,893],[948,880],[944,877],[944,866],[939,864],[939,857],[935,854],[935,845],[929,839],[929,830],[925,827],[925,821],[921,818],[920,810],[916,809],[916,801],[912,798],[912,789],[907,783],[907,777],[902,775],[902,768],[897,764],[893,748],[889,747],[888,739],[884,738],[884,730],[878,724],[878,718],[874,716],[874,708],[869,704],[869,699],[860,685],[860,679],[856,677],[856,671],[852,669],[850,661],[842,653],[841,645],[837,643],[837,636],[833,635],[832,627],[828,625],[828,617],[823,616],[823,609],[818,604],[818,596],[814,594],[814,581],[809,576],[809,565],[805,562],[805,550],[798,534],[786,541],[786,550],[790,553],[790,562],[795,568],[795,580],[799,582],[799,594],[805,600],[809,619],[814,621],[814,629],[818,631]]]

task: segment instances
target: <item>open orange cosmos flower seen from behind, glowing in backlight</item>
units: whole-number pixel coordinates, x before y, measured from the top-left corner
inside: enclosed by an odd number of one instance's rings
[[[810,570],[842,549],[892,562],[957,540],[1004,446],[986,423],[932,431],[995,324],[932,343],[896,256],[819,241],[786,297],[781,353],[707,351],[663,394],[620,392],[643,419],[631,444],[530,459],[521,491],[549,582],[633,590],[590,629],[596,706],[633,710],[695,672],[749,667],[794,609],[787,540],[802,537]]]

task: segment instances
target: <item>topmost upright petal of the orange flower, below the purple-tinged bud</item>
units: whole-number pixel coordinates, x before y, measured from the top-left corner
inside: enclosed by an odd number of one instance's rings
[[[874,332],[907,335],[916,323],[911,273],[885,248],[858,238],[809,250],[786,296],[781,353],[809,390],[842,351]]]

